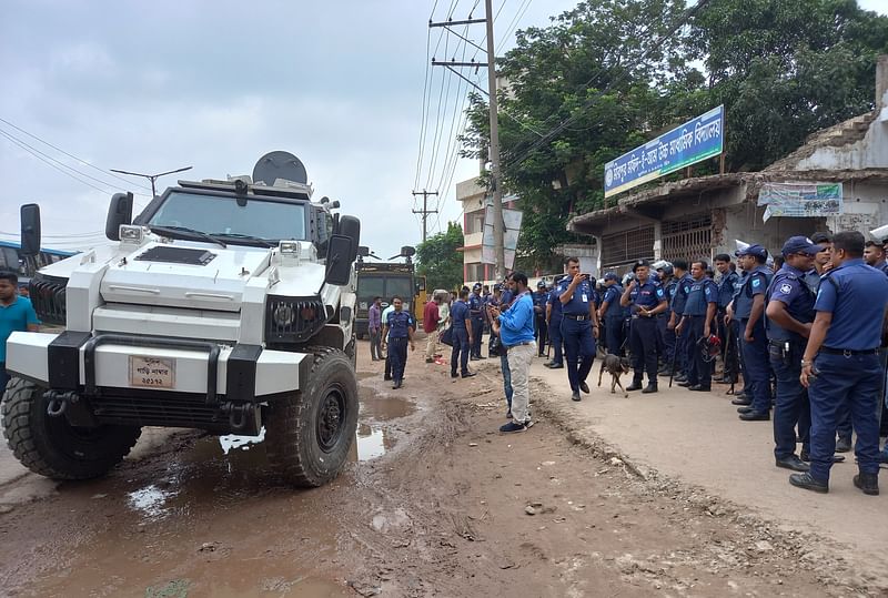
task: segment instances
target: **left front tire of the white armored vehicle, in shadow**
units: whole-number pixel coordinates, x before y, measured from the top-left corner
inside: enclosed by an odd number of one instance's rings
[[[138,426],[74,427],[47,414],[46,388],[12,378],[3,395],[3,435],[28,469],[53,479],[90,479],[108,473],[142,434]]]

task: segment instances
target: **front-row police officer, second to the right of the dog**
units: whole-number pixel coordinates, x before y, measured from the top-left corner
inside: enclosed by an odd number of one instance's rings
[[[690,285],[685,312],[675,332],[680,335],[687,327],[687,343],[690,346],[687,381],[678,384],[687,386],[688,391],[708,393],[712,389],[713,372],[712,362],[706,359],[705,353],[708,352],[708,339],[718,311],[718,286],[706,275],[706,270],[707,264],[703,260],[690,264],[694,284]],[[700,339],[704,339],[703,343]]]

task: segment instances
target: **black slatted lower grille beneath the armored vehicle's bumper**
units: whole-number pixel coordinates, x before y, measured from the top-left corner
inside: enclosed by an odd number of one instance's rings
[[[114,396],[109,396],[114,393]],[[199,428],[226,432],[226,417],[219,409],[206,405],[206,398],[184,393],[129,391],[119,395],[119,389],[102,388],[101,395],[90,397],[95,417],[102,423]]]

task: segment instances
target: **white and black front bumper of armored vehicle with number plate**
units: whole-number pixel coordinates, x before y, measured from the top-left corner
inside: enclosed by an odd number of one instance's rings
[[[260,345],[72,331],[13,333],[8,347],[7,369],[44,386],[48,413],[72,426],[243,435],[259,434],[262,404],[300,389],[313,357]]]

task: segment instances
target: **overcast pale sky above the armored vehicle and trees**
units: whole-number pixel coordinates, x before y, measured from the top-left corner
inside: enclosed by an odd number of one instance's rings
[[[19,205],[37,202],[44,246],[100,242],[112,193],[142,193],[137,207],[150,194],[135,186],[145,181],[114,179],[108,169],[193,165],[183,178],[223,178],[249,174],[262,154],[285,150],[305,163],[315,197],[337,199],[343,213],[361,217],[362,243],[377,255],[416,244],[411,191],[442,187],[441,215],[430,219],[435,232],[460,216],[455,183],[477,173],[472,161],[447,168],[466,85],[435,68],[417,174],[427,22],[433,6],[437,21],[453,3],[1,0],[0,239],[17,240]],[[514,43],[516,27],[544,26],[575,3],[494,0],[497,54]],[[482,1],[460,0],[453,18],[475,4],[482,17]],[[860,4],[887,11],[884,0]],[[440,32],[431,34],[433,50]],[[484,26],[468,36],[483,45]],[[460,59],[457,42],[445,37],[433,53],[451,58],[458,48]],[[486,87],[483,70],[478,77]],[[450,98],[441,109],[440,98]]]

